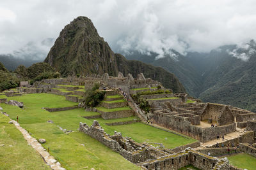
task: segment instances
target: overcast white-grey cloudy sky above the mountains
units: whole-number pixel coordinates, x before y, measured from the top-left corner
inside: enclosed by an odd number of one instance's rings
[[[46,56],[51,46],[41,42],[78,16],[91,18],[115,52],[209,52],[254,39],[255,9],[255,0],[1,0],[0,53]]]

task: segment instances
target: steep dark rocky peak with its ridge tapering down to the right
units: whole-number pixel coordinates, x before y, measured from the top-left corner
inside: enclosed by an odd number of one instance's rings
[[[177,77],[163,68],[135,60],[129,61],[124,56],[114,53],[87,17],[77,17],[65,26],[45,62],[63,76],[104,73],[117,76],[118,71],[121,71],[125,75],[131,73],[136,77],[142,72],[148,78],[161,81],[174,92],[186,92]]]

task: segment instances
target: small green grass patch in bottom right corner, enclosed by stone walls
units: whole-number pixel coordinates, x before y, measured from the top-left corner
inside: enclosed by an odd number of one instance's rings
[[[232,166],[248,170],[254,170],[256,167],[256,158],[247,153],[238,153],[227,158]]]

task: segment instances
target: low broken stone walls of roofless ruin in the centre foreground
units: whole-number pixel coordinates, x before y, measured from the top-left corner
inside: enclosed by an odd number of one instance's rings
[[[167,148],[155,148],[148,143],[136,143],[118,132],[110,136],[100,127],[97,120],[94,120],[90,127],[85,123],[80,123],[79,131],[97,139],[125,159],[141,166],[142,169],[180,169],[189,164],[203,170],[229,169],[229,162],[226,158],[210,157],[191,148],[173,153]]]

